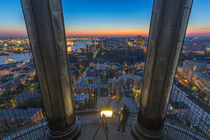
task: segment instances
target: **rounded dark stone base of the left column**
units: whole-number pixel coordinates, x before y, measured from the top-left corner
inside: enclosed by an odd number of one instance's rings
[[[48,131],[49,140],[74,140],[80,134],[81,123],[75,116],[74,123],[66,129],[57,131]]]

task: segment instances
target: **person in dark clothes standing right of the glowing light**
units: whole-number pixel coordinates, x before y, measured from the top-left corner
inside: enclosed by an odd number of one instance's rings
[[[119,111],[119,125],[117,129],[118,133],[120,133],[121,129],[122,129],[122,133],[125,133],[125,128],[126,128],[129,114],[130,114],[130,111],[127,109],[126,105],[122,105]]]

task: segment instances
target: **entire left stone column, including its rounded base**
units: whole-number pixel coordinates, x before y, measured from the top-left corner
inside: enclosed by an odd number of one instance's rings
[[[61,0],[21,0],[45,105],[49,139],[74,139],[74,114]]]

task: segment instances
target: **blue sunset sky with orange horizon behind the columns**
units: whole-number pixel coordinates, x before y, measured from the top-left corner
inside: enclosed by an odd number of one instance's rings
[[[153,0],[62,0],[67,35],[147,35]],[[188,35],[210,35],[210,0],[194,0]],[[0,36],[25,36],[20,0],[1,0]]]

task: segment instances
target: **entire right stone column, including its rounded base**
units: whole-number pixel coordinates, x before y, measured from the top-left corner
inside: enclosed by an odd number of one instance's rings
[[[193,0],[154,0],[142,94],[132,134],[162,139],[174,75]]]

